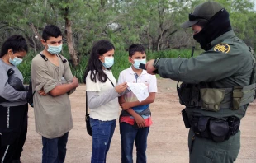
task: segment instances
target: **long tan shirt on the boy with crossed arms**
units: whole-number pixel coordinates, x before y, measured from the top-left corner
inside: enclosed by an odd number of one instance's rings
[[[65,58],[62,56],[62,59]],[[61,137],[73,128],[69,95],[42,96],[37,92],[44,89],[45,93],[49,93],[62,84],[62,77],[68,83],[73,81],[68,62],[63,63],[59,58],[59,66],[56,66],[49,60],[45,61],[40,54],[33,58],[31,81],[33,91],[36,91],[33,97],[36,132],[46,138]]]

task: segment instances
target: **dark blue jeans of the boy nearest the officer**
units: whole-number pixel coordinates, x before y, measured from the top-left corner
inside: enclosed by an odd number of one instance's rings
[[[149,127],[135,128],[128,123],[120,123],[121,134],[121,162],[132,163],[133,144],[137,151],[137,163],[147,162],[146,149]]]

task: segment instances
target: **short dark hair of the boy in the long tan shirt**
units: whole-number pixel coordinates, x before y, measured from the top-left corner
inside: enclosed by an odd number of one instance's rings
[[[59,30],[58,26],[55,25],[47,25],[45,26],[44,30],[43,30],[43,34],[42,34],[42,38],[43,40],[48,40],[50,37],[59,37],[62,36],[61,31]]]

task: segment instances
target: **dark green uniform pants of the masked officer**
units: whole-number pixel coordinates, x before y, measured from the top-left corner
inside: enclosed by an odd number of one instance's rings
[[[194,136],[194,132],[190,129],[188,148],[190,163],[232,163],[239,153],[240,131],[235,136],[231,136],[229,140],[214,142]]]

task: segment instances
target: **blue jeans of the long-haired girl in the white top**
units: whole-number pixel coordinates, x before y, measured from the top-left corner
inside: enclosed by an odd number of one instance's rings
[[[92,127],[92,159],[91,163],[106,163],[107,151],[116,128],[116,119],[101,121],[90,119]]]

